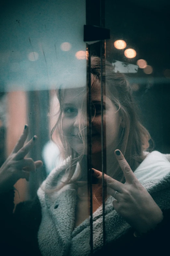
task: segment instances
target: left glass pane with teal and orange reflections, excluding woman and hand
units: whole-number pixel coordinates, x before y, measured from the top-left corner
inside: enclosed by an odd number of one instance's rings
[[[50,138],[59,110],[56,89],[86,86],[85,1],[8,1],[0,19],[1,163],[25,124],[28,139],[38,137],[30,157],[44,163],[29,183],[17,182],[18,203],[35,196],[58,164],[60,150]]]

